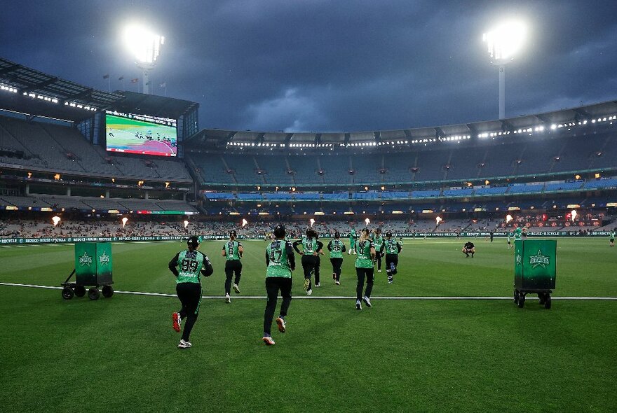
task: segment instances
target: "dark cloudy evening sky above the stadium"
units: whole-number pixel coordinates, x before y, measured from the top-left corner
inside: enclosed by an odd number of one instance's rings
[[[506,116],[616,99],[616,16],[616,0],[7,1],[0,55],[121,90],[142,77],[121,43],[140,21],[165,36],[154,92],[198,102],[201,128],[392,130],[499,118],[482,33],[502,18],[529,27]]]

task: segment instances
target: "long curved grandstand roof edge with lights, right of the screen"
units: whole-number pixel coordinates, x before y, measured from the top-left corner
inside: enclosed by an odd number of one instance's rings
[[[449,137],[454,135],[477,135],[487,132],[506,132],[524,128],[552,124],[578,123],[604,116],[617,114],[617,101],[591,104],[572,109],[562,109],[525,115],[505,120],[488,120],[484,122],[460,125],[443,125],[438,127],[419,127],[403,130],[369,131],[369,132],[255,132],[237,130],[204,129],[189,139],[189,144],[225,146],[227,143],[269,143],[269,144],[351,144],[367,141],[393,141],[401,139],[426,139]]]

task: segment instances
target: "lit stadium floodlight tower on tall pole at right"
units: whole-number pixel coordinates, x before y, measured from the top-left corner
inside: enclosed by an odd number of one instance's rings
[[[503,22],[482,35],[487,43],[491,64],[499,67],[499,119],[506,118],[506,64],[520,52],[527,36],[522,22]]]

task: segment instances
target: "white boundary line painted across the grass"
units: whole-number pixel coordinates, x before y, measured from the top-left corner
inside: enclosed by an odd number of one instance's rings
[[[29,287],[29,288],[45,288],[48,290],[62,290],[62,287],[57,286],[36,286],[34,284],[18,284],[18,283],[1,283],[0,286],[11,287]],[[114,294],[130,294],[130,295],[154,295],[155,297],[176,297],[175,294],[165,293],[143,293],[140,291],[116,291]],[[202,298],[222,299],[222,295],[202,295]],[[236,295],[233,297],[237,299],[248,300],[264,300],[265,295]],[[297,295],[293,297],[294,300],[355,300],[355,297],[346,297],[344,295],[328,295],[324,297],[317,297],[316,295]],[[578,300],[578,301],[617,301],[617,297],[551,297],[553,300]],[[538,297],[529,297],[527,300],[537,300]],[[371,300],[513,300],[513,297],[371,297]]]

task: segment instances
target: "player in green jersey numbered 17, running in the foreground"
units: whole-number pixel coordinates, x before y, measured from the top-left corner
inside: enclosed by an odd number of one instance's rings
[[[264,343],[271,346],[274,343],[270,334],[272,318],[276,309],[278,291],[283,297],[280,304],[276,324],[280,332],[285,332],[285,316],[292,301],[292,271],[296,269],[294,249],[289,241],[285,241],[285,225],[278,224],[274,228],[274,241],[266,247],[266,311],[264,311]]]

